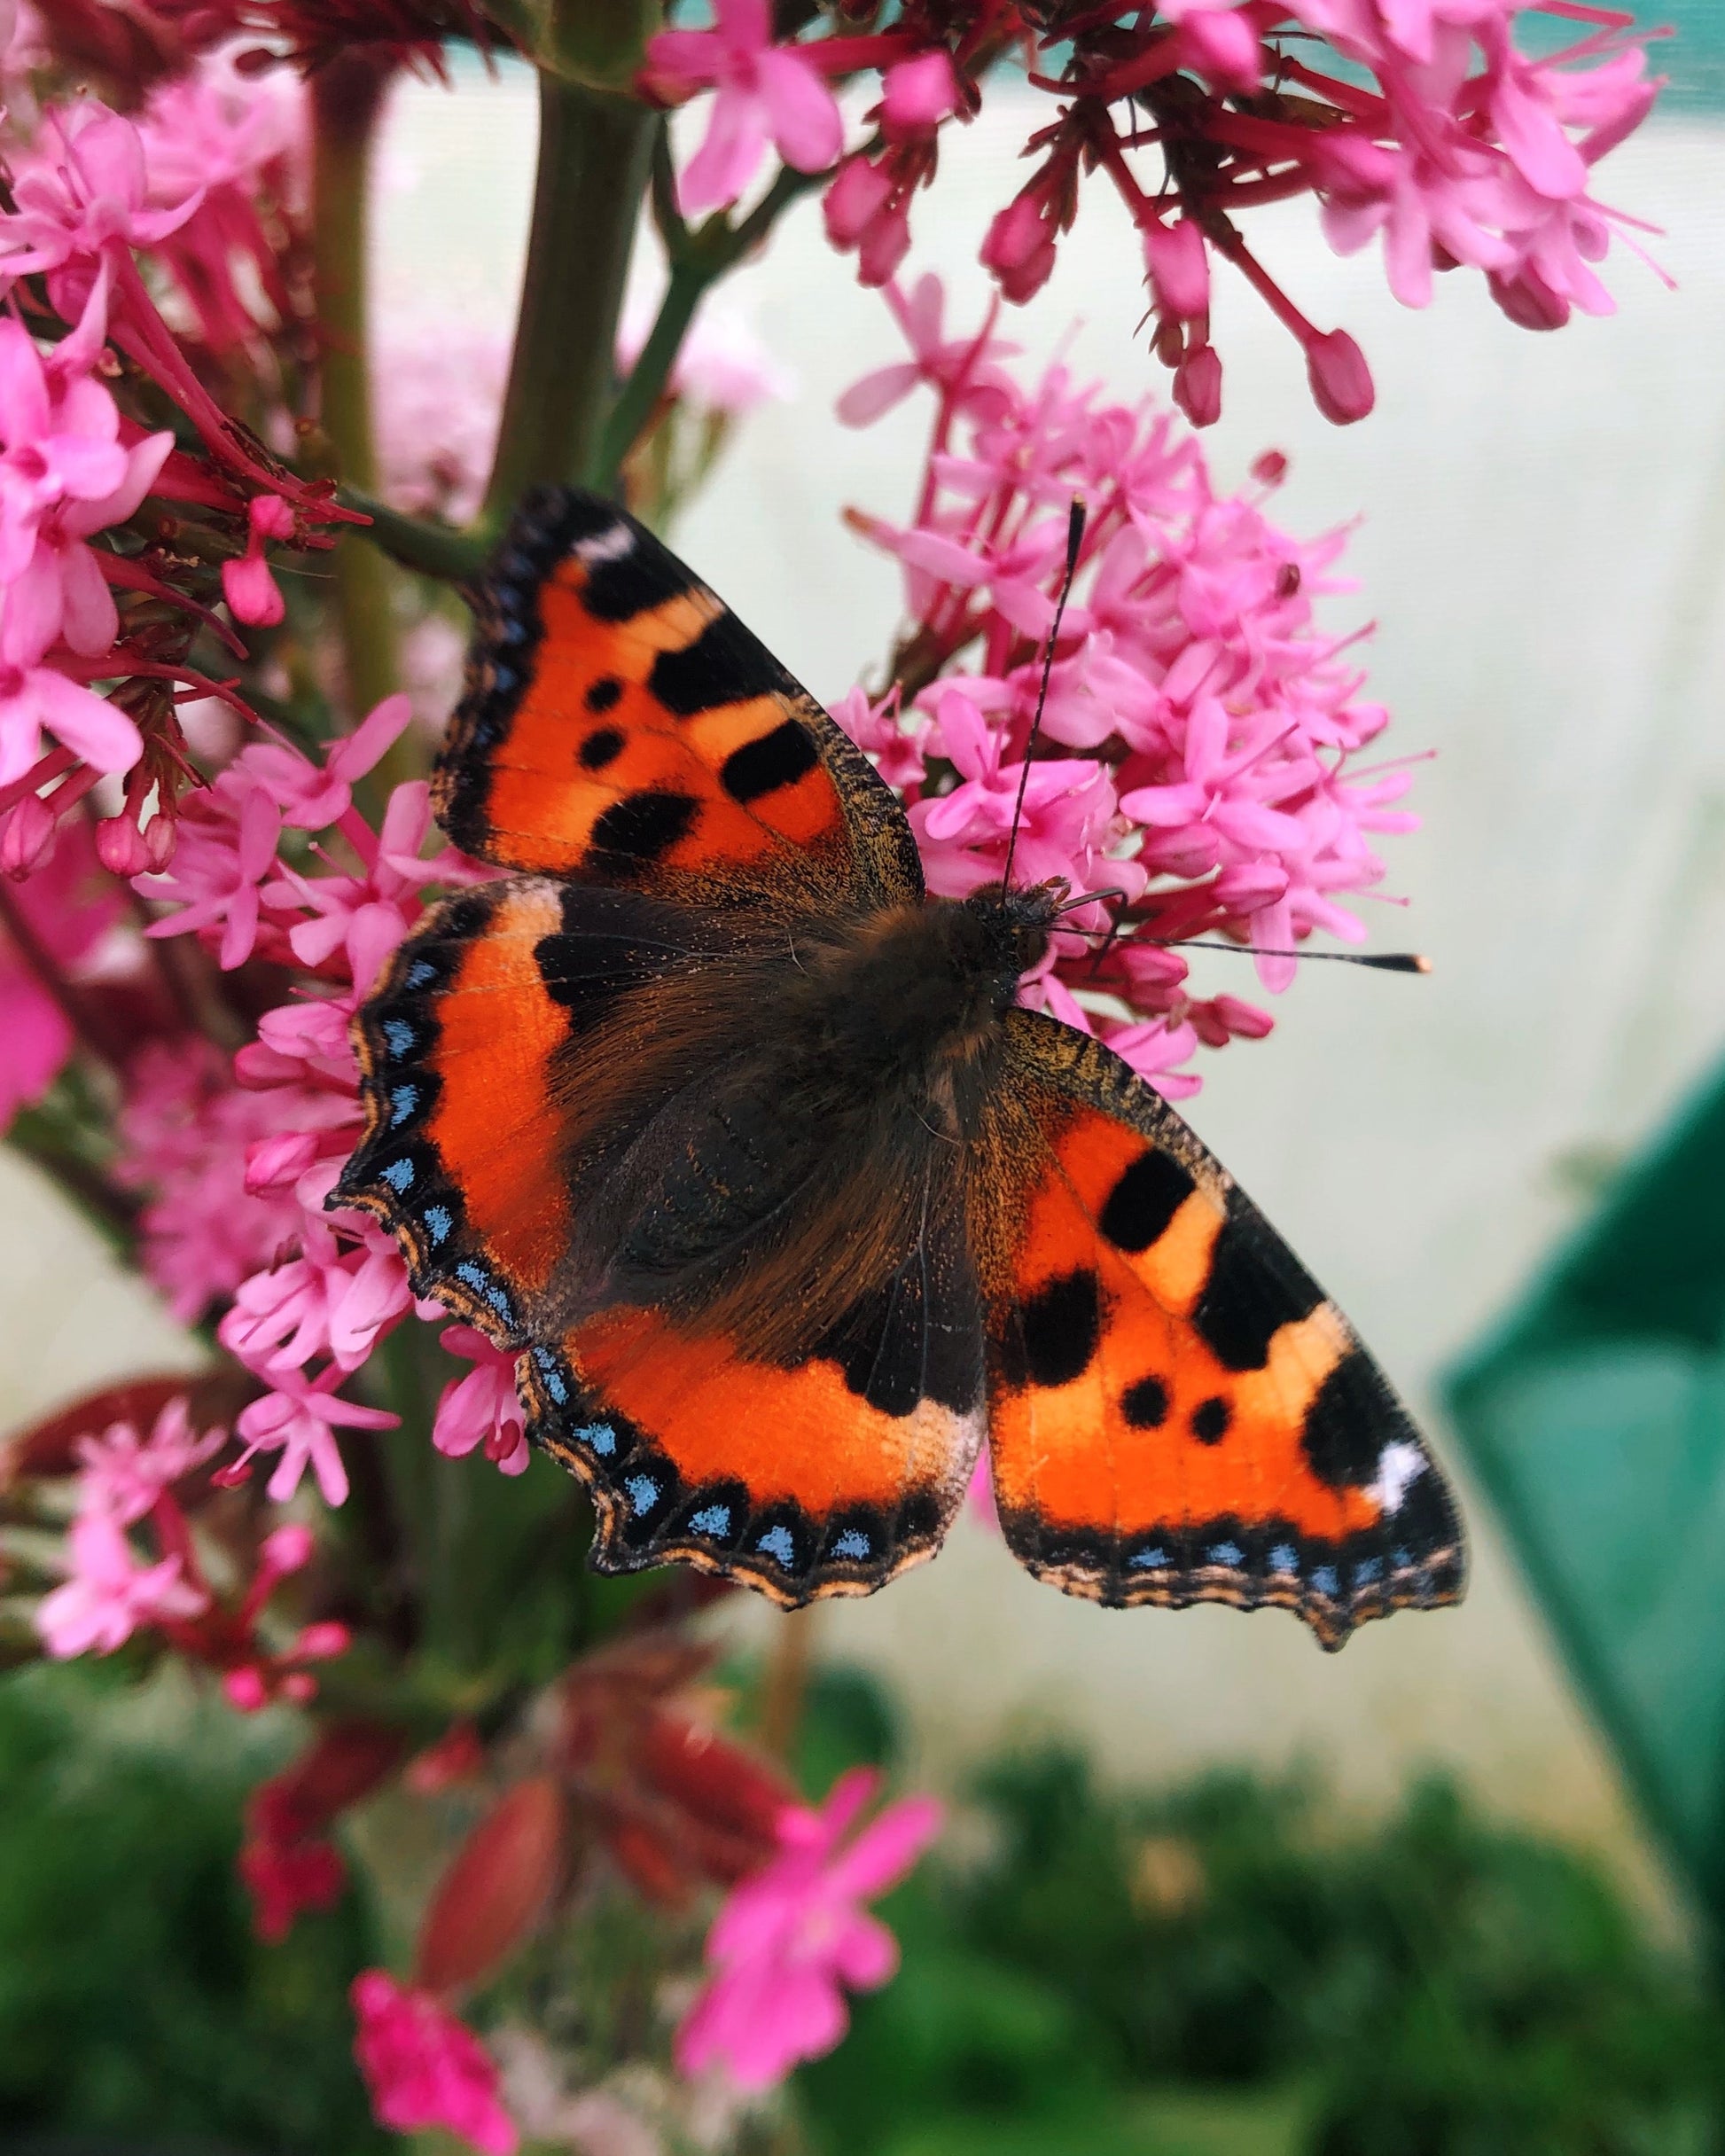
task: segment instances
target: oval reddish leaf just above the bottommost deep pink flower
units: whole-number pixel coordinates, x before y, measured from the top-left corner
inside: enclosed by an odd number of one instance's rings
[[[438,1882],[418,1934],[414,1984],[453,1992],[502,1966],[556,1887],[563,1835],[563,1792],[550,1774],[505,1792]]]

